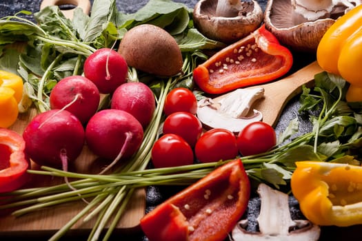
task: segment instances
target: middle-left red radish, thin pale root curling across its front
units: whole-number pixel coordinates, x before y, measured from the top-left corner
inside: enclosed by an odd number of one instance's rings
[[[83,76],[68,76],[50,92],[50,107],[65,109],[86,123],[97,112],[101,96],[96,85]]]

